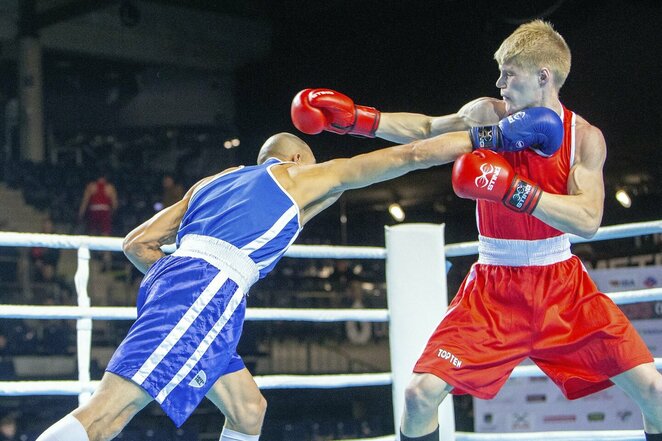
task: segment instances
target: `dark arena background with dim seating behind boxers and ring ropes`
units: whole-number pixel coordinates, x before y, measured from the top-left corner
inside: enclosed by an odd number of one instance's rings
[[[301,89],[329,87],[382,112],[455,112],[474,98],[499,97],[493,53],[534,18],[552,22],[572,50],[562,102],[607,141],[602,225],[662,219],[659,0],[0,0],[0,230],[101,234],[79,211],[87,184],[103,175],[117,192],[110,235],[121,238],[200,178],[253,164],[278,132],[301,136],[320,161],[388,146],[303,135],[290,120],[291,100]],[[384,226],[398,224],[393,204],[404,223],[445,224],[447,244],[476,240],[475,204],[454,195],[450,171],[348,192],[296,244],[384,247]],[[661,250],[659,224],[636,237],[573,245],[609,291],[660,287]],[[448,258],[449,297],[474,260]],[[0,247],[0,304],[76,305],[76,268],[75,250]],[[248,306],[387,308],[385,278],[384,260],[284,258],[253,287]],[[122,253],[92,252],[92,306],[134,306],[140,280]],[[621,308],[651,335],[662,332],[662,301]],[[130,324],[95,320],[92,380]],[[391,369],[387,323],[249,321],[239,353],[258,376]],[[75,320],[0,319],[0,382],[77,378]],[[390,385],[263,393],[263,440],[395,430]],[[0,441],[32,441],[77,404],[76,395],[0,396]],[[492,411],[478,413],[483,405],[455,398],[456,430],[505,431]],[[550,417],[555,425],[526,422],[536,412],[513,413],[507,429],[642,427],[636,413],[610,426],[595,403],[568,411],[574,419]],[[589,426],[573,425],[580,420]],[[218,440],[222,426],[208,401],[180,429],[152,403],[117,439]]]

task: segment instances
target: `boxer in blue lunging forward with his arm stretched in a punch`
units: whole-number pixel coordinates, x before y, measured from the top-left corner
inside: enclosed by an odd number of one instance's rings
[[[501,130],[534,124],[505,121]],[[138,318],[91,399],[38,441],[112,439],[152,400],[181,426],[205,396],[225,415],[221,441],[258,440],[266,401],[236,352],[251,285],[345,190],[471,150],[469,133],[455,132],[317,164],[305,142],[281,133],[262,146],[258,165],[199,181],[126,236],[124,253],[145,274]],[[164,255],[173,241],[176,251]]]

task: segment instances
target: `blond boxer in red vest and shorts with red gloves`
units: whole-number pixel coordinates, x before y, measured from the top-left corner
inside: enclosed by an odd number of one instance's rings
[[[329,89],[302,91],[292,105],[295,126],[310,134],[409,142],[469,129],[479,147],[452,173],[456,194],[477,201],[478,261],[414,367],[400,439],[439,440],[437,408],[449,392],[494,397],[528,357],[569,399],[616,384],[641,408],[646,439],[661,441],[662,376],[653,357],[570,252],[567,233],[591,237],[600,226],[606,158],[602,132],[559,100],[570,49],[535,20],[494,58],[502,99],[478,98],[445,116],[381,113]],[[535,145],[535,136],[503,147],[495,124],[532,107],[562,119],[560,149]]]

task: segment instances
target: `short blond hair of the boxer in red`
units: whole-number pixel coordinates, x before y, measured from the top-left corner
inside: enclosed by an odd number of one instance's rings
[[[499,66],[506,62],[525,69],[548,67],[558,89],[570,73],[570,48],[551,23],[533,20],[515,29],[494,53]]]

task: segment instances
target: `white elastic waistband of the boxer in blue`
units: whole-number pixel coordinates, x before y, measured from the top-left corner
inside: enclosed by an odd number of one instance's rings
[[[260,278],[260,270],[250,257],[224,240],[198,234],[184,236],[173,256],[195,257],[228,273],[230,279],[248,291]]]

